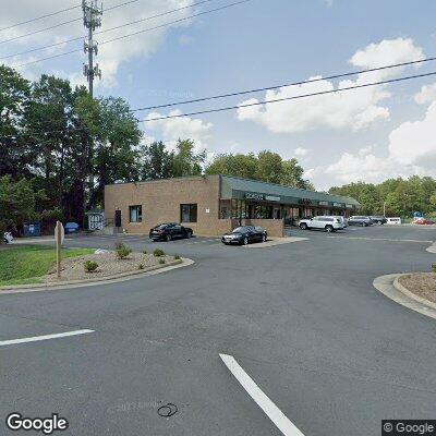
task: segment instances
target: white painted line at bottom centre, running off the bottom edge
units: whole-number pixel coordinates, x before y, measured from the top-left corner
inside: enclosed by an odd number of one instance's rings
[[[250,397],[276,424],[277,428],[286,436],[304,436],[299,428],[283,414],[283,412],[261,390],[249,374],[239,365],[232,355],[219,354],[222,362],[234,375]]]

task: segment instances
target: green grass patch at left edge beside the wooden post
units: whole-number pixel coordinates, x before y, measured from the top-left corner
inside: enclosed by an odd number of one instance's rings
[[[92,249],[64,249],[62,258],[92,254]],[[45,245],[12,245],[0,249],[0,287],[40,283],[56,264],[56,249]]]

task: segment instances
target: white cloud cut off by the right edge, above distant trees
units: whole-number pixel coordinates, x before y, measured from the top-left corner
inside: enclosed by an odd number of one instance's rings
[[[436,101],[423,120],[400,124],[389,135],[390,156],[401,165],[432,165],[436,167]]]

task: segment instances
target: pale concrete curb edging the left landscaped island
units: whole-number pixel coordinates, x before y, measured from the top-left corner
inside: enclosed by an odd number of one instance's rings
[[[165,264],[165,265],[155,265],[147,269],[122,272],[117,276],[107,276],[107,277],[101,277],[98,279],[70,280],[70,281],[63,282],[62,284],[50,282],[50,283],[36,283],[36,284],[20,284],[20,286],[14,286],[14,287],[12,287],[12,286],[0,287],[0,295],[7,295],[7,294],[11,294],[11,293],[51,291],[51,290],[63,290],[63,289],[94,287],[94,286],[100,286],[100,284],[119,283],[122,281],[140,279],[143,277],[154,276],[156,274],[167,272],[172,269],[182,268],[182,267],[190,266],[193,264],[194,264],[194,261],[182,257],[181,259],[173,261],[173,262]]]

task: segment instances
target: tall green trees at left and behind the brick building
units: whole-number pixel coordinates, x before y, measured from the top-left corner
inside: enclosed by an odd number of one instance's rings
[[[0,227],[56,219],[83,225],[85,211],[102,207],[104,187],[114,182],[221,172],[312,187],[295,159],[271,152],[206,162],[190,138],[173,149],[145,140],[122,98],[92,98],[66,80],[43,74],[31,82],[0,65]]]

